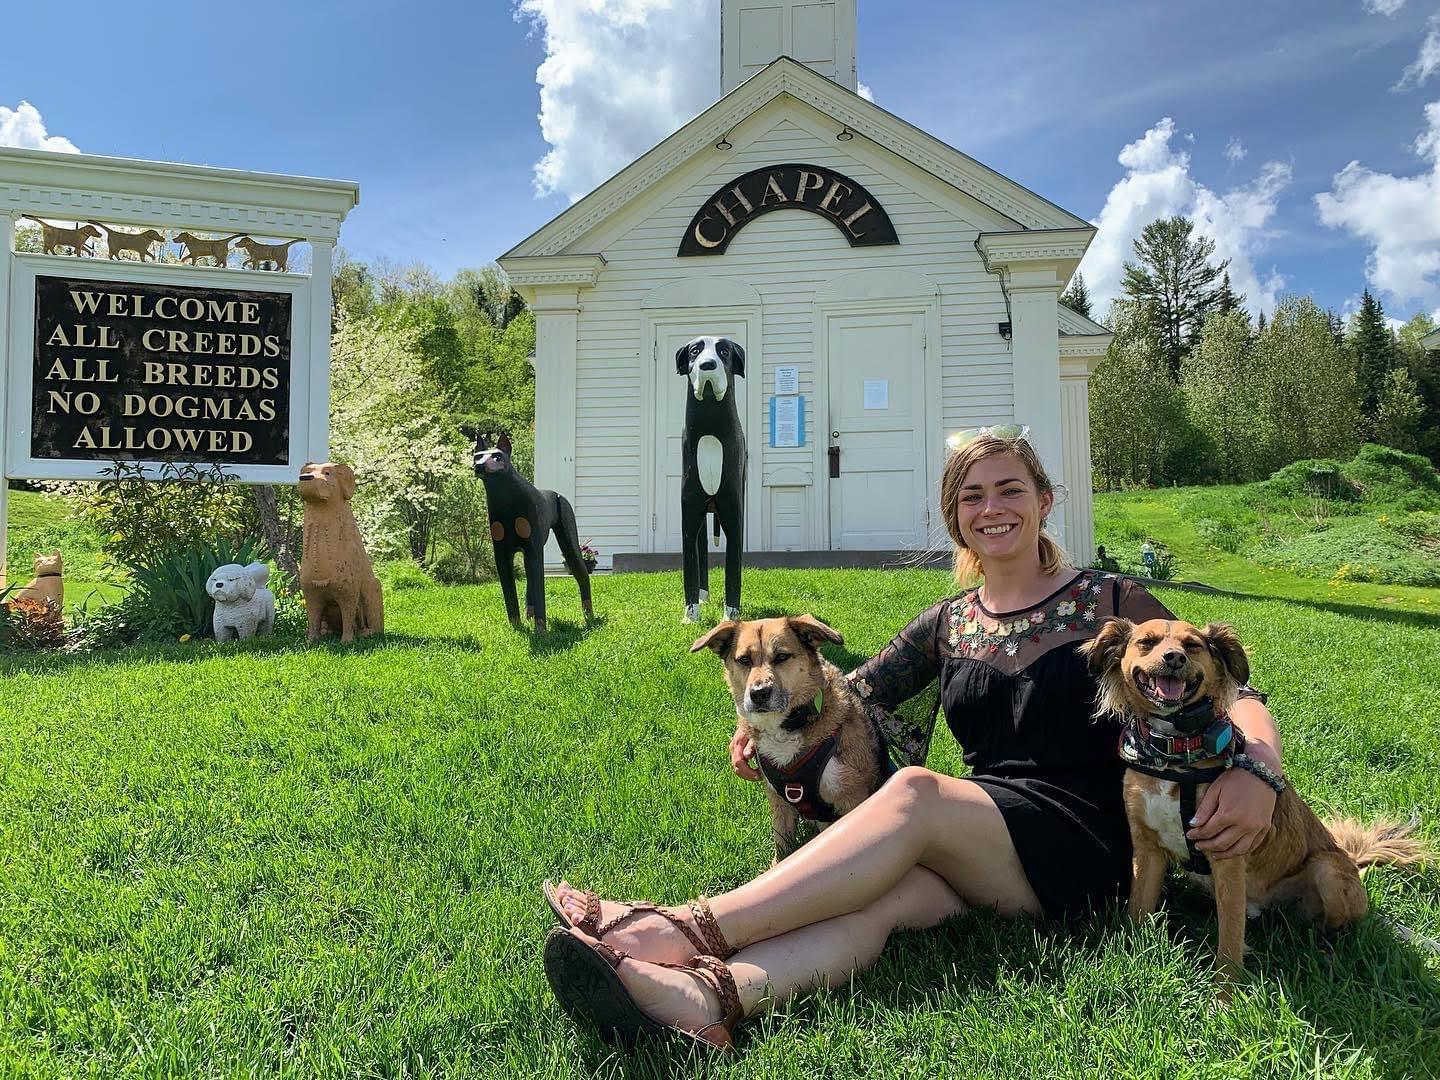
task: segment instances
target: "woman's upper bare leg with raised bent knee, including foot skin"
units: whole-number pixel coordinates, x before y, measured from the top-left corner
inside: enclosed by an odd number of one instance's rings
[[[837,916],[860,912],[913,867],[939,874],[971,907],[1040,914],[1005,819],[978,783],[920,768],[901,769],[876,795],[753,881],[710,899],[732,948],[743,949]],[[583,901],[563,893],[572,919]],[[675,909],[688,917],[685,909]],[[655,917],[657,922],[658,917]],[[606,937],[647,959],[683,959],[681,935],[642,920]]]

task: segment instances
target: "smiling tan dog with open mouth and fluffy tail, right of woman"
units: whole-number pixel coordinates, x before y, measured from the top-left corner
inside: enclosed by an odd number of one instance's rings
[[[1096,714],[1125,721],[1125,809],[1135,845],[1130,916],[1159,904],[1165,868],[1179,863],[1215,897],[1221,994],[1244,966],[1246,914],[1293,903],[1326,930],[1361,919],[1368,897],[1359,867],[1420,861],[1410,827],[1322,822],[1283,778],[1244,756],[1244,736],[1228,720],[1250,661],[1234,629],[1151,619],[1106,619],[1080,647],[1099,675]],[[1280,786],[1270,834],[1248,855],[1208,861],[1187,841],[1187,821],[1227,768],[1259,769]],[[1208,873],[1207,873],[1208,870]]]

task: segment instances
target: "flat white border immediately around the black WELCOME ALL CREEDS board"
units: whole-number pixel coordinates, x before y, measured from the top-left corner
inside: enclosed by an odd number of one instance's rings
[[[35,393],[35,281],[42,276],[89,278],[144,285],[190,285],[228,292],[284,292],[289,311],[289,432],[285,465],[217,464],[240,484],[294,484],[312,448],[328,439],[328,364],[310,363],[310,276],[226,268],[192,268],[176,264],[140,264],[118,259],[76,259],[66,255],[16,253],[10,274],[9,416],[4,429],[9,446],[0,458],[12,480],[101,480],[114,472],[109,459],[30,456],[32,400]],[[315,438],[318,436],[318,438]],[[215,455],[206,455],[215,458]],[[157,477],[163,461],[124,458],[127,465]]]

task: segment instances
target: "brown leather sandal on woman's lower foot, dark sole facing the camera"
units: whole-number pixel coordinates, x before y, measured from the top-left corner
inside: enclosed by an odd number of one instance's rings
[[[704,982],[720,998],[723,1017],[698,1031],[662,1024],[631,996],[619,976],[629,953],[612,949],[605,942],[593,945],[557,926],[544,942],[544,973],[570,1017],[585,1020],[599,1030],[606,1041],[634,1043],[638,1035],[680,1035],[704,1050],[734,1050],[734,1028],[744,1018],[740,991],[724,960],[714,956],[693,956],[688,963],[658,963],[658,968],[683,971]]]

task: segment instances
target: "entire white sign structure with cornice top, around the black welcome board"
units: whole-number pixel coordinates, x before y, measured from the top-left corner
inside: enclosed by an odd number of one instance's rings
[[[30,456],[35,278],[55,272],[98,281],[289,292],[289,464],[220,464],[240,482],[294,484],[307,461],[330,455],[331,274],[340,225],[359,202],[360,186],[348,180],[0,147],[0,585],[7,569],[6,481],[95,480],[114,468],[107,461]],[[310,245],[310,274],[19,253],[14,233],[20,219],[301,240]],[[135,464],[147,475],[163,467]]]

